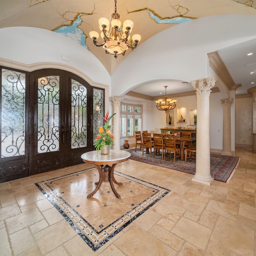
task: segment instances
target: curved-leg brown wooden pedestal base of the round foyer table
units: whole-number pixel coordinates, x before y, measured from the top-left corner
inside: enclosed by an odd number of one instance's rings
[[[116,179],[114,178],[114,168],[116,166],[116,164],[112,164],[112,166],[109,166],[108,164],[103,166],[103,165],[98,165],[98,164],[94,164],[96,166],[96,168],[98,169],[98,172],[100,174],[100,179],[98,182],[95,182],[96,188],[94,189],[94,191],[92,193],[90,193],[87,198],[91,198],[92,196],[94,196],[94,194],[99,190],[100,185],[102,184],[102,182],[109,182],[110,186],[112,188],[112,191],[114,192],[114,195],[116,196],[116,198],[120,199],[121,196],[118,194],[118,192],[116,192],[115,188],[114,188],[114,184],[122,185],[122,182],[117,182]]]

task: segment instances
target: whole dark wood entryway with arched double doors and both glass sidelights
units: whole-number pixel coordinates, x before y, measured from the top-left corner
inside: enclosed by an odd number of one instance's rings
[[[94,149],[104,90],[75,74],[2,69],[1,102],[0,182],[80,164]]]

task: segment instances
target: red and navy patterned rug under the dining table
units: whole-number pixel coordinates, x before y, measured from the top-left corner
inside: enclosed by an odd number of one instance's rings
[[[176,158],[175,163],[173,162],[173,156],[162,160],[162,156],[155,155],[155,158],[150,157],[150,154],[142,156],[142,151],[130,149],[128,152],[131,153],[130,159],[147,164],[153,164],[162,166],[165,168],[187,172],[190,174],[196,173],[196,160],[187,158],[187,161],[181,161]],[[152,154],[153,156],[153,154]],[[223,156],[218,154],[210,154],[210,171],[211,176],[214,180],[229,182],[230,178],[234,174],[236,167],[238,166],[240,158],[237,156]]]

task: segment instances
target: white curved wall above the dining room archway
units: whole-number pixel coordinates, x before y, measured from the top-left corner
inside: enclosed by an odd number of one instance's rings
[[[158,79],[190,82],[208,77],[207,53],[256,38],[256,16],[219,15],[168,28],[145,41],[111,76],[114,95]],[[124,80],[123,75],[132,74]],[[121,81],[121,82],[120,82]]]

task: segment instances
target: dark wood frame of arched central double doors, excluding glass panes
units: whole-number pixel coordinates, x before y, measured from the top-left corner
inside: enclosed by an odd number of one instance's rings
[[[46,152],[40,153],[37,152],[37,80],[40,77],[44,76],[60,76],[60,122],[59,122],[59,150],[55,152]],[[87,89],[87,146],[83,148],[71,148],[71,80],[74,79],[77,82],[81,83]],[[92,150],[91,137],[91,86],[82,78],[66,72],[63,70],[39,70],[32,72],[30,74],[30,95],[31,95],[31,104],[34,106],[30,110],[30,116],[34,118],[30,120],[30,169],[29,174],[38,174],[42,172],[47,172],[50,170],[56,170],[59,168],[64,168],[66,166],[72,166],[75,164],[81,164],[83,161],[81,155],[84,152]]]

